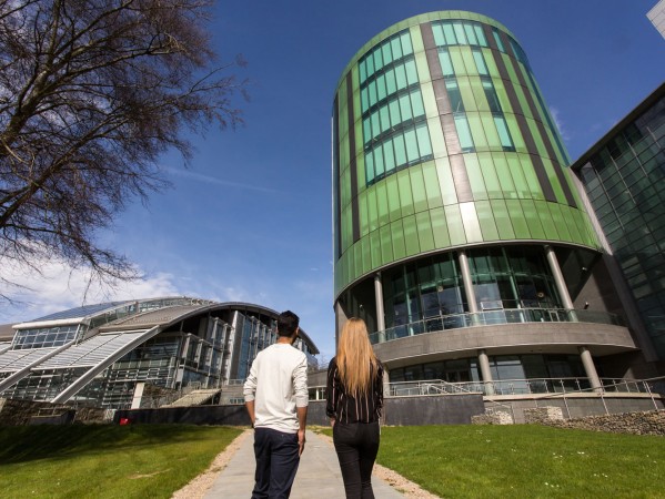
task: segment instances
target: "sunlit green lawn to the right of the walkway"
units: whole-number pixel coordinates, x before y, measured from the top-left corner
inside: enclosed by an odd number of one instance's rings
[[[656,436],[383,427],[377,462],[442,498],[665,498],[665,438]]]

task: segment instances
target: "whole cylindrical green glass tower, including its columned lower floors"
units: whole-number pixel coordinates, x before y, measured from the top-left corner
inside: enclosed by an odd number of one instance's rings
[[[442,11],[382,31],[343,70],[332,129],[337,330],[365,319],[391,383],[598,390],[646,365],[618,298],[587,299],[603,242],[503,24]]]

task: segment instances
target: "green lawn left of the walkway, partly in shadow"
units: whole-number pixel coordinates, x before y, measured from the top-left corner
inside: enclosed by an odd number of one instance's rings
[[[0,428],[0,497],[170,498],[240,432],[185,425]]]

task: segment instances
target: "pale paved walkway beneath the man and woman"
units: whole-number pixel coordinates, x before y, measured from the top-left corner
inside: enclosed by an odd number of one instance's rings
[[[305,450],[300,458],[291,499],[340,499],[344,497],[344,485],[335,449],[323,437],[308,431]],[[254,487],[254,438],[243,439],[229,465],[215,479],[204,499],[252,497]],[[404,496],[387,482],[372,477],[374,496],[381,499],[399,499]]]

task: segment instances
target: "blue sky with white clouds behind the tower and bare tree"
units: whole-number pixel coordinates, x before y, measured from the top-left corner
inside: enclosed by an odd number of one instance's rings
[[[656,0],[221,1],[212,31],[222,60],[242,53],[246,124],[194,138],[189,170],[161,161],[174,187],[133,203],[100,234],[145,274],[83,298],[84,276],[56,263],[19,272],[29,291],[0,304],[0,324],[107,298],[194,295],[290,308],[326,359],[334,355],[331,106],[336,82],[373,35],[434,10],[505,24],[526,51],[575,160],[665,80],[665,40],[646,18]]]

